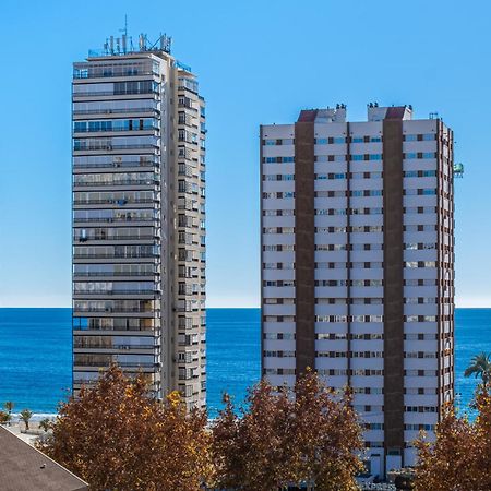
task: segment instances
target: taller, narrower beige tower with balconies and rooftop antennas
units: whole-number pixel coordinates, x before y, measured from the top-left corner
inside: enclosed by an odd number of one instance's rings
[[[118,363],[206,403],[205,107],[170,38],[73,71],[73,390]]]

